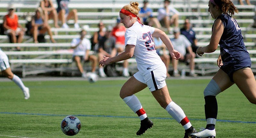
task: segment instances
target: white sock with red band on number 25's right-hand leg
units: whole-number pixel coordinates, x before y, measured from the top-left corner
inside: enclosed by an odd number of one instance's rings
[[[183,112],[183,110],[173,101],[171,101],[165,110],[178,122],[183,128],[186,130],[190,128],[192,125],[189,122],[187,116]]]

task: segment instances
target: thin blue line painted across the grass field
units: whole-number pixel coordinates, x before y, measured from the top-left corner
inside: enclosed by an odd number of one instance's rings
[[[38,114],[38,113],[12,113],[12,112],[0,112],[0,114],[24,114],[24,115],[43,115],[43,116],[67,116],[64,114]],[[74,116],[84,116],[84,117],[113,117],[113,118],[138,118],[135,116],[113,116],[113,115],[87,115],[87,114],[72,114]],[[151,119],[166,119],[166,120],[173,120],[173,118],[168,117],[150,117]],[[205,121],[205,119],[191,119],[195,121]],[[249,122],[249,121],[232,121],[232,120],[217,120],[219,122],[232,122],[232,123],[249,123],[249,124],[256,124],[256,122]]]

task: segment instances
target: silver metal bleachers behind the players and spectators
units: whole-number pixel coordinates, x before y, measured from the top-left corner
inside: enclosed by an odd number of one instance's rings
[[[4,12],[7,6],[12,3],[16,8],[16,14],[20,17],[19,23],[23,26],[26,24],[26,16],[34,15],[35,9],[39,6],[40,0],[1,0],[0,1],[0,17],[3,17],[7,12]],[[57,7],[55,0],[52,0],[55,7]],[[137,0],[140,4],[143,0]],[[234,0],[239,13],[235,14],[234,18],[237,20],[243,32],[245,45],[250,50],[252,61],[255,59],[255,38],[256,29],[251,27],[253,23],[253,16],[255,15],[255,5],[238,5],[237,0]],[[93,32],[98,31],[97,24],[102,21],[107,25],[116,24],[116,17],[118,11],[124,5],[129,4],[130,0],[70,0],[69,8],[77,9],[78,23],[80,27],[84,25],[89,26],[87,29],[87,38],[91,38]],[[251,0],[251,3],[256,3],[256,0]],[[140,5],[142,6],[142,4]],[[211,37],[213,19],[208,13],[208,0],[177,0],[172,1],[171,6],[179,10],[179,26],[182,27],[185,18],[189,18],[196,31],[198,39],[198,46],[206,46],[209,44]],[[163,7],[163,0],[149,0],[149,7],[153,9],[153,16],[157,16],[157,9]],[[2,23],[2,20],[0,20]],[[48,22],[53,26],[53,21]],[[13,71],[19,71],[22,76],[30,74],[39,74],[45,72],[66,72],[74,69],[72,65],[72,50],[69,49],[72,38],[79,37],[78,32],[81,29],[72,28],[74,20],[69,20],[70,28],[54,28],[52,27],[53,38],[57,43],[32,43],[31,36],[24,37],[24,43],[10,44],[6,35],[0,35],[0,48],[6,52],[10,59]],[[168,35],[172,38],[173,35]],[[45,35],[49,41],[49,35]],[[49,41],[50,42],[50,41]],[[14,47],[21,47],[22,51],[11,51]],[[207,73],[216,72],[218,52],[212,54],[205,54],[203,57],[195,59],[198,74],[205,75]],[[130,60],[134,64],[133,59]],[[207,66],[210,68],[205,68]],[[254,69],[255,70],[255,69]]]

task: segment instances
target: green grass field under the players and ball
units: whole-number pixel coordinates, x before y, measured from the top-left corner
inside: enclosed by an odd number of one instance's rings
[[[166,80],[172,100],[180,105],[192,125],[204,128],[203,90],[210,79]],[[125,80],[24,81],[30,99],[12,81],[0,82],[0,138],[68,138],[60,123],[75,115],[82,124],[74,138],[183,138],[184,129],[156,102],[148,88],[137,93],[153,128],[137,136],[140,120],[119,97]],[[236,86],[217,96],[217,138],[255,138],[256,106]]]

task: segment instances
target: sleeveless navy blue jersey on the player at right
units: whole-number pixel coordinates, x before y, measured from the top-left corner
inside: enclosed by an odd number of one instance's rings
[[[221,14],[217,19],[221,19],[224,26],[219,42],[223,66],[232,66],[238,64],[243,59],[250,58],[244,45],[241,29],[236,20],[225,13]]]

